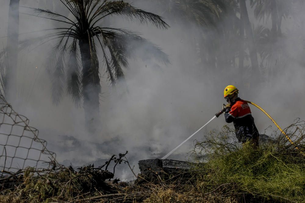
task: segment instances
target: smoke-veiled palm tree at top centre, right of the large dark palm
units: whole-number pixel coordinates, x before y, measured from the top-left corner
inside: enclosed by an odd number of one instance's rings
[[[135,0],[137,1],[137,0]],[[183,40],[189,40],[190,46],[188,53],[190,58],[196,58],[200,63],[206,62],[209,67],[216,66],[216,55],[212,49],[207,50],[207,46],[213,46],[215,36],[208,38],[208,29],[215,29],[219,23],[221,12],[226,7],[226,2],[231,0],[138,0],[138,3],[151,3],[156,9],[156,13],[168,19],[172,24],[183,24]],[[194,29],[196,25],[197,32],[192,33],[189,30]],[[211,35],[212,36],[212,35]],[[192,53],[197,50],[196,56]],[[202,64],[203,66],[203,64]],[[203,72],[206,72],[204,69]]]

